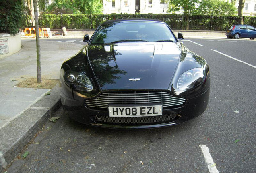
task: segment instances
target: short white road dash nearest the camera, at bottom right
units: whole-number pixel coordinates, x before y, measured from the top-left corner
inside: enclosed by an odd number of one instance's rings
[[[208,170],[210,173],[219,173],[218,169],[216,168],[216,164],[213,162],[213,158],[209,153],[209,148],[206,145],[199,145],[204,155],[204,159],[207,163]]]

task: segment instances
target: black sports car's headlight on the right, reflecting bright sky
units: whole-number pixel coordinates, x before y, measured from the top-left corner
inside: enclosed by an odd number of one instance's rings
[[[203,68],[193,68],[184,72],[177,83],[177,88],[180,90],[190,89],[196,87],[205,79],[205,72]]]

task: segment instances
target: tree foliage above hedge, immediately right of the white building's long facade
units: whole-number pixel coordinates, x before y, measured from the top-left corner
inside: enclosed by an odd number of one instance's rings
[[[177,12],[182,10],[183,14],[192,14],[196,10],[196,4],[199,0],[170,0],[168,12]]]

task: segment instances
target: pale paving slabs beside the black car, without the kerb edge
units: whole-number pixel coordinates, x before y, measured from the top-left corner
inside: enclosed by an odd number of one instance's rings
[[[14,87],[26,78],[36,78],[35,42],[24,40],[22,46],[20,52],[0,59],[0,127],[48,91]],[[58,79],[62,62],[82,47],[80,44],[41,41],[42,78]]]

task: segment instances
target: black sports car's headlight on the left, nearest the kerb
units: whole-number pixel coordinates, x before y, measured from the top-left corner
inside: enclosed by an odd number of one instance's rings
[[[70,87],[72,84],[77,90],[92,91],[93,85],[89,78],[80,72],[66,71],[64,74],[65,83]]]

